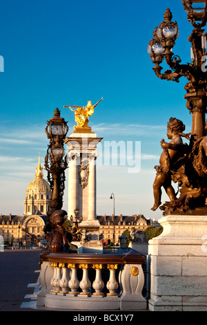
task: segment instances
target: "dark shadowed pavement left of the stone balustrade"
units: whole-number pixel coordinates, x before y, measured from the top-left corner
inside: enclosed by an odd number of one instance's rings
[[[0,311],[35,310],[40,250],[0,252]]]

